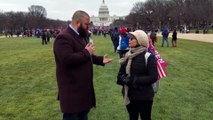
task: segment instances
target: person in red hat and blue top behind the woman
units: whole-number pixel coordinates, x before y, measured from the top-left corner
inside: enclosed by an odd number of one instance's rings
[[[129,35],[127,34],[127,30],[125,28],[120,29],[120,35],[119,35],[119,44],[117,47],[117,52],[120,56],[120,58],[124,57],[126,52],[129,51]]]

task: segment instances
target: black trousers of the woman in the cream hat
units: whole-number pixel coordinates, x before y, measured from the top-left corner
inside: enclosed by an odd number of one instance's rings
[[[151,120],[152,112],[151,100],[134,100],[127,105],[127,111],[129,113],[129,120],[138,120],[140,115],[141,120]]]

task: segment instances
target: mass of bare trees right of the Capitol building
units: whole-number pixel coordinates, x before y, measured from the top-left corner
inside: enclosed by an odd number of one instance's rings
[[[144,29],[181,26],[207,27],[213,22],[212,0],[147,0],[137,2],[126,17]]]

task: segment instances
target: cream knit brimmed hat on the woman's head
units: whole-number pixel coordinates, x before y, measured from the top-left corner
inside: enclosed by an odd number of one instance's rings
[[[136,30],[134,32],[129,32],[129,33],[134,35],[134,37],[137,39],[138,44],[140,46],[148,47],[149,38],[148,38],[148,35],[143,30]]]

